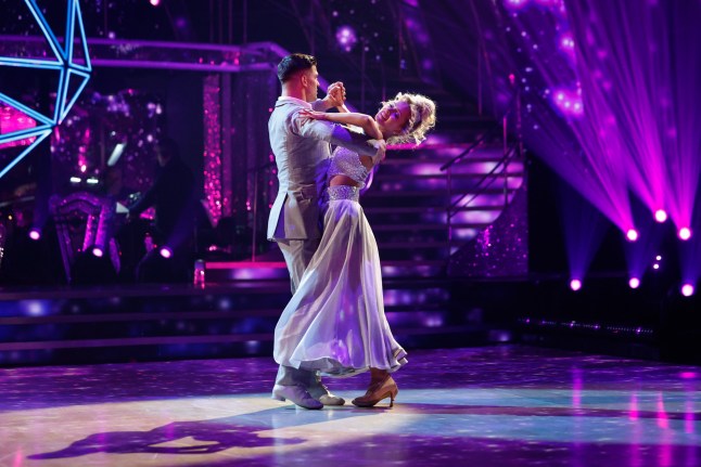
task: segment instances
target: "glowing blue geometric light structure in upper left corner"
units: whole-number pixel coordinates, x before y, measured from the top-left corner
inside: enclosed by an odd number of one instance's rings
[[[0,102],[14,107],[37,121],[37,126],[34,128],[0,134],[0,144],[27,138],[36,138],[36,140],[22,151],[22,153],[20,153],[14,159],[12,159],[10,164],[0,168],[0,179],[2,179],[2,177],[17,165],[20,160],[29,154],[31,150],[38,146],[39,143],[41,143],[49,134],[51,134],[54,127],[61,125],[68,114],[68,111],[71,111],[71,107],[73,107],[73,104],[75,104],[78,99],[78,95],[80,95],[80,92],[82,92],[82,89],[88,83],[90,74],[92,73],[78,0],[67,0],[66,29],[63,44],[49,26],[49,23],[41,13],[36,0],[24,0],[24,2],[50,46],[53,59],[0,56],[0,66],[53,70],[59,74],[59,87],[56,89],[56,101],[53,103],[52,115],[41,114],[26,105],[26,103],[22,103],[5,94],[3,90],[0,89]],[[78,59],[79,55],[81,55],[81,59]],[[68,89],[72,87],[72,83],[77,83],[77,86],[74,86],[74,94],[68,95]]]

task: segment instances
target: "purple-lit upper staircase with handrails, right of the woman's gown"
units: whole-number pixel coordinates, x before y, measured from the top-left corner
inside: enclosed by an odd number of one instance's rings
[[[386,277],[444,276],[448,257],[490,225],[522,185],[523,161],[504,158],[502,146],[489,142],[388,154],[361,199]]]

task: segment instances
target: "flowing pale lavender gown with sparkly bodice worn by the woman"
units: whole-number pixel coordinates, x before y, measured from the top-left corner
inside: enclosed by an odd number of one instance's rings
[[[275,330],[276,362],[352,376],[370,367],[394,372],[406,352],[384,315],[378,244],[358,203],[368,169],[343,147],[328,176],[345,174],[360,186],[328,186],[323,236]]]

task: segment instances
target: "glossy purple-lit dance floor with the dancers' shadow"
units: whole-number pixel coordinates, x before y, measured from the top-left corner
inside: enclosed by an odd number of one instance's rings
[[[271,359],[0,369],[1,466],[699,466],[701,368],[415,351],[393,408],[295,410]],[[348,400],[368,375],[329,380]]]

